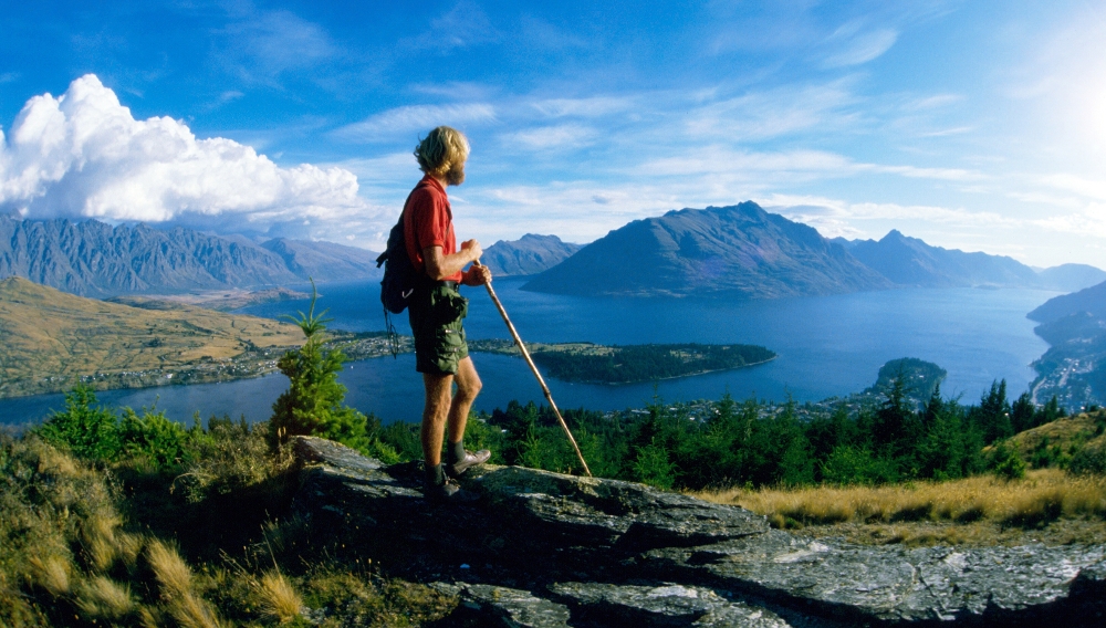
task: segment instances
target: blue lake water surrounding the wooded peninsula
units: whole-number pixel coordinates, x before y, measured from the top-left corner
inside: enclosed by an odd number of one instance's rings
[[[589,341],[601,344],[745,343],[766,346],[779,357],[768,364],[624,386],[547,383],[561,408],[615,410],[638,408],[659,396],[666,401],[757,396],[799,401],[859,391],[873,384],[887,360],[918,357],[949,371],[941,390],[974,402],[995,379],[1005,378],[1013,396],[1034,378],[1030,363],[1047,344],[1033,334],[1025,314],[1057,293],[1040,290],[906,289],[772,301],[690,301],[562,296],[523,292],[520,280],[500,280],[495,291],[523,341]],[[302,290],[303,287],[300,286]],[[310,291],[310,287],[307,289]],[[320,308],[332,327],[384,328],[377,282],[320,286]],[[507,327],[483,289],[470,297],[466,329],[470,338],[509,338]],[[284,302],[242,310],[260,316],[305,311],[307,302]],[[409,333],[406,313],[397,317]],[[508,401],[544,400],[520,358],[473,354],[484,383],[477,409]],[[375,358],[346,366],[340,377],[346,401],[385,422],[417,421],[422,407],[421,378],[413,355]],[[194,386],[98,393],[106,405],[138,408],[157,404],[170,418],[191,420],[228,414],[250,421],[267,419],[272,402],[288,387],[280,374]],[[61,408],[61,395],[0,400],[0,422],[28,423]]]

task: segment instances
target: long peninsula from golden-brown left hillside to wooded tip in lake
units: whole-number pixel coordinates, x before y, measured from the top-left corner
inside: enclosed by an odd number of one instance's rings
[[[20,278],[0,281],[0,398],[58,393],[83,383],[96,390],[204,384],[276,370],[303,343],[289,323],[209,308],[220,299],[280,299],[284,293],[112,302],[66,294]],[[202,306],[200,306],[200,304]],[[327,348],[348,359],[392,355],[384,332],[327,332]],[[473,352],[519,356],[510,341],[470,341]],[[753,366],[774,359],[754,345],[533,343],[526,348],[549,377],[633,384]],[[398,353],[414,350],[398,336]]]

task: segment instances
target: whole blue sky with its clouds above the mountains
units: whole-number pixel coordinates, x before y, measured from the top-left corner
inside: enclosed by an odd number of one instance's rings
[[[437,124],[461,238],[753,199],[1106,268],[1106,6],[7,2],[0,208],[379,249]]]

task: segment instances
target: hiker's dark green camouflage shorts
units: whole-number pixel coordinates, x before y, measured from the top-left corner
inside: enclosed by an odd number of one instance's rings
[[[457,375],[458,364],[469,356],[461,320],[469,313],[469,300],[448,284],[416,291],[410,304],[415,334],[415,370],[435,375]]]

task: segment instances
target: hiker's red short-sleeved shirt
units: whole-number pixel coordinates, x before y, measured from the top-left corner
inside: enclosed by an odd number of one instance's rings
[[[441,184],[430,175],[422,177],[404,205],[404,239],[407,241],[407,255],[418,272],[426,272],[422,250],[427,247],[441,247],[445,255],[457,252],[449,198]],[[445,279],[459,282],[461,273],[458,271]]]

